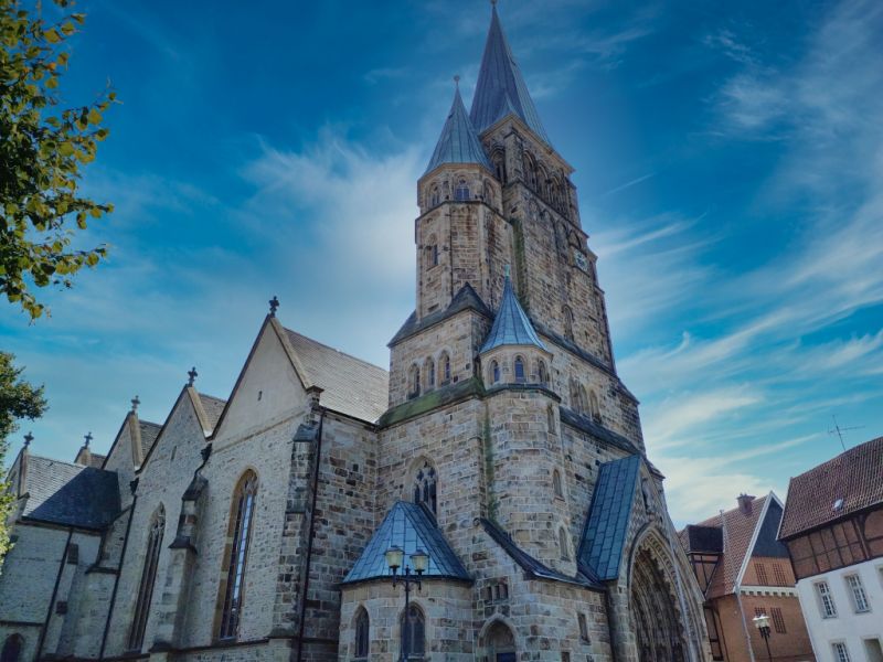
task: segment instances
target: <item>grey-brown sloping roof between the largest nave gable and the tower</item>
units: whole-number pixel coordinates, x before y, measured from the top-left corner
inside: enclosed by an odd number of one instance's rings
[[[385,370],[290,329],[286,332],[310,382],[322,388],[322,405],[370,423],[381,417],[390,388]]]

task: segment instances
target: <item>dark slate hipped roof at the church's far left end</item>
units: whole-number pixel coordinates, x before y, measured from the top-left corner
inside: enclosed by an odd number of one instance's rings
[[[26,461],[23,517],[100,530],[119,514],[115,472],[33,455]]]

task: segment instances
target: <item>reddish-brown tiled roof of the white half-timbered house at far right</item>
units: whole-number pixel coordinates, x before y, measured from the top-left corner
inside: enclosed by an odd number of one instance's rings
[[[834,503],[842,499],[840,509]],[[883,503],[883,437],[841,452],[790,480],[779,538]]]

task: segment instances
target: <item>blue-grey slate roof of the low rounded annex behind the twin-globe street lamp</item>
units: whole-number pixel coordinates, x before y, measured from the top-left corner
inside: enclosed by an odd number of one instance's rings
[[[408,564],[411,564],[408,557],[418,548],[429,555],[429,567],[423,574],[424,577],[472,580],[432,515],[422,505],[397,501],[371,536],[368,546],[343,578],[342,584],[389,577],[390,570],[384,554],[394,545],[405,552],[405,562]]]

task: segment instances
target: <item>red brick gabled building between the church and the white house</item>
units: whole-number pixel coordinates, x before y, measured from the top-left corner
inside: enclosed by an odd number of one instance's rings
[[[773,492],[759,499],[742,494],[737,501],[737,508],[680,533],[705,595],[712,659],[766,660],[766,645],[752,622],[766,613],[773,660],[815,660],[788,551],[776,540],[784,505]]]

